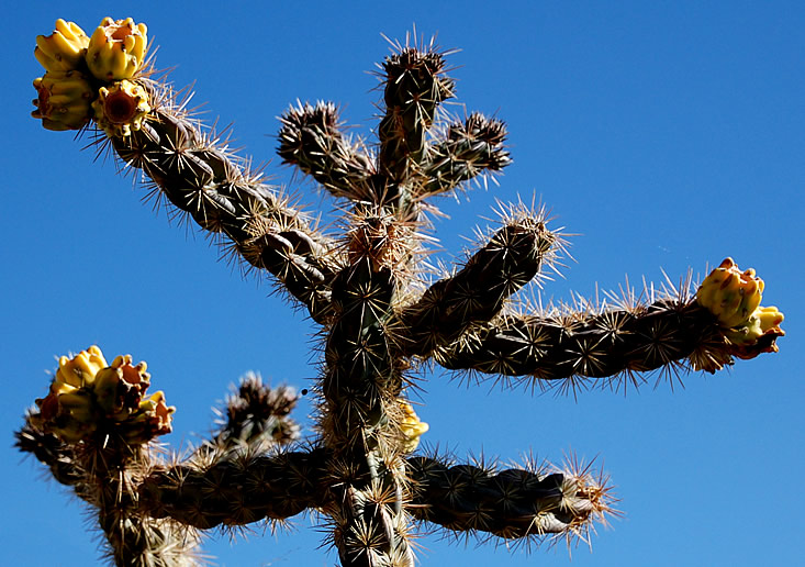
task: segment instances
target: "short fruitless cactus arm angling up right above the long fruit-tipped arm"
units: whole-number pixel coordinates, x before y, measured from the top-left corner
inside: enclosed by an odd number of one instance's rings
[[[541,216],[512,220],[456,275],[435,282],[399,314],[406,355],[428,356],[470,326],[489,322],[504,301],[552,260],[558,236]]]

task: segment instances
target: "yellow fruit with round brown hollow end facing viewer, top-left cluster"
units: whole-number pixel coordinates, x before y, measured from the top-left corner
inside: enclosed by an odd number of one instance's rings
[[[109,137],[123,137],[142,127],[143,120],[150,112],[150,104],[143,87],[122,80],[109,88],[101,87],[92,109],[98,126]]]

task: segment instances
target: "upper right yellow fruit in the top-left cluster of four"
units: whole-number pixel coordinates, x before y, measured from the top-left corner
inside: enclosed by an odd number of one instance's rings
[[[87,48],[87,66],[101,80],[131,79],[143,66],[148,29],[134,20],[104,18]]]

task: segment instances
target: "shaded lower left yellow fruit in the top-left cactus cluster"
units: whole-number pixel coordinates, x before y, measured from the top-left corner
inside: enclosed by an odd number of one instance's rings
[[[38,97],[31,115],[47,130],[80,130],[89,122],[92,87],[76,70],[47,71],[34,80]]]

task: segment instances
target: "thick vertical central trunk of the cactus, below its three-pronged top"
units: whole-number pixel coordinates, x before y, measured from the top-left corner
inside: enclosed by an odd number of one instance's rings
[[[367,220],[361,242],[371,244]],[[374,248],[376,246],[370,246]],[[400,454],[401,362],[391,356],[384,322],[390,316],[396,281],[389,267],[362,256],[333,282],[333,326],[325,346],[327,373],[324,446],[332,452],[333,492],[343,504],[333,511],[334,541],[343,564],[376,565],[413,555],[405,536],[404,465]],[[354,467],[344,478],[343,463]]]

